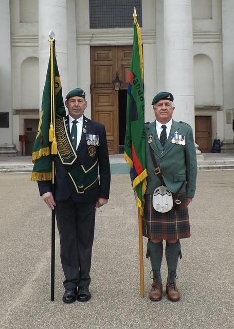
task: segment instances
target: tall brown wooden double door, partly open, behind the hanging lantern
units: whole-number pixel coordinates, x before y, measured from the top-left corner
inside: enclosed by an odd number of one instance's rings
[[[132,46],[91,47],[92,118],[105,125],[110,154],[124,143],[126,104]],[[119,92],[113,86],[118,72]]]

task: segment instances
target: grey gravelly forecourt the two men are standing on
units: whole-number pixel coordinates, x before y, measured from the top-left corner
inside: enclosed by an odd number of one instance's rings
[[[149,300],[146,258],[146,296],[140,298],[137,208],[129,176],[112,175],[110,201],[97,210],[92,299],[66,305],[57,230],[55,301],[50,301],[50,211],[37,184],[30,173],[0,173],[0,328],[233,328],[233,178],[233,170],[199,171],[189,206],[192,236],[181,241],[178,263],[182,297],[173,303],[165,295],[165,263],[163,299]]]

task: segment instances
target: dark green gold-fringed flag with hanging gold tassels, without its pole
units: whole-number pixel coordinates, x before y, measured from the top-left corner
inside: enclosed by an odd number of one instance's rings
[[[55,39],[50,40],[50,58],[42,96],[38,133],[35,138],[31,180],[52,179],[52,154],[57,154],[55,116],[66,116],[62,86],[55,56]]]

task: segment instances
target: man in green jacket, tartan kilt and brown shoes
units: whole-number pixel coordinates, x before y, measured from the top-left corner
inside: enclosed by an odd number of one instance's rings
[[[161,283],[161,261],[163,240],[166,240],[168,277],[166,294],[171,301],[178,301],[176,287],[178,257],[182,257],[180,239],[190,236],[187,206],[195,194],[196,151],[191,127],[182,121],[172,120],[173,95],[168,92],[157,94],[153,101],[156,120],[145,124],[147,143],[147,190],[143,216],[143,235],[148,237],[147,257],[150,257],[153,284],[150,299],[158,301],[163,295]],[[173,207],[161,212],[164,206],[154,203],[154,191],[166,186],[172,192]],[[167,205],[167,203],[166,203]],[[167,206],[166,206],[167,207]],[[165,208],[164,208],[165,209]]]

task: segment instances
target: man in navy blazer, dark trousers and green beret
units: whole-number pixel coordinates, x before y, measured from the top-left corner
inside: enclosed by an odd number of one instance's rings
[[[105,127],[83,115],[84,91],[71,90],[65,105],[67,117],[56,120],[55,199],[49,181],[38,181],[38,186],[45,203],[56,210],[65,276],[63,301],[72,303],[91,298],[95,209],[107,203],[111,174]]]

